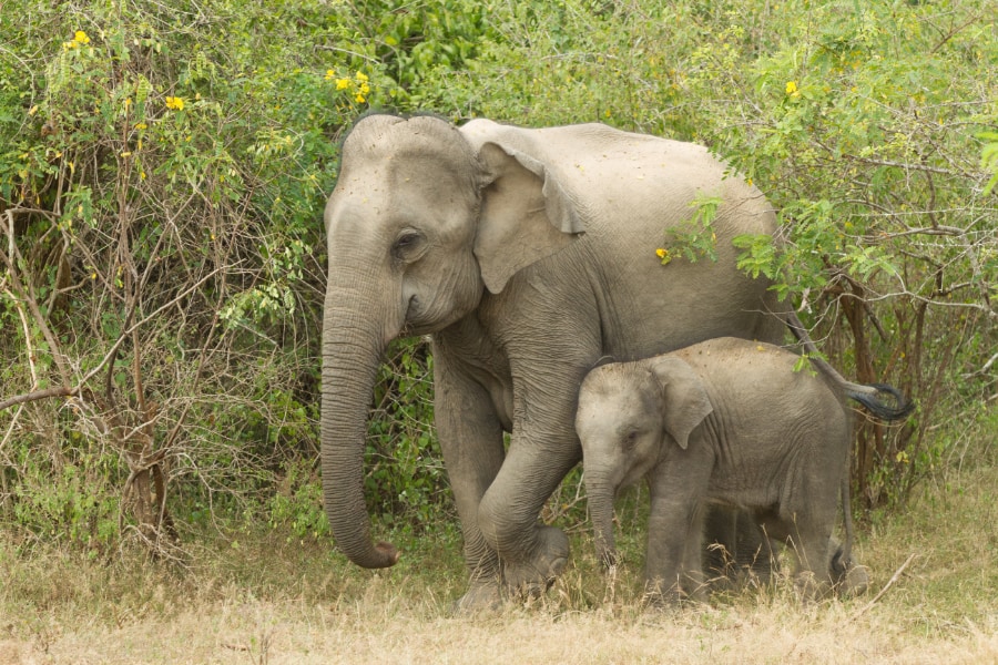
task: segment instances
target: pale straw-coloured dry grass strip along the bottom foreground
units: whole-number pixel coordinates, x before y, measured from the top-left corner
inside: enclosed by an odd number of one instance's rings
[[[122,626],[53,627],[0,642],[2,663],[988,663],[996,622],[913,631],[884,605],[703,607],[676,615],[518,610],[447,618],[385,597],[348,605],[226,601]]]

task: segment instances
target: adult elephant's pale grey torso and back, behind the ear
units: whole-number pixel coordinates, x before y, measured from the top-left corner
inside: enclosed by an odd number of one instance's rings
[[[496,141],[543,163],[574,205],[584,234],[518,282],[591,290],[584,300],[599,311],[602,355],[631,360],[721,336],[782,340],[770,283],[737,268],[731,243],[775,233],[772,206],[705,147],[601,124],[522,130],[481,120],[461,131],[472,147]],[[666,229],[711,197],[723,202],[710,228],[716,258],[692,262]],[[675,258],[663,265],[665,252]]]

